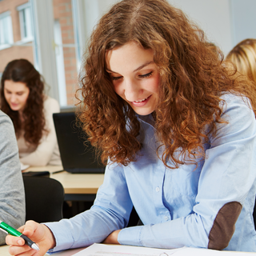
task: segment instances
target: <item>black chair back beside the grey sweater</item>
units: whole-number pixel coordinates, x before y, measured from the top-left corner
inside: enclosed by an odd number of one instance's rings
[[[57,222],[63,218],[64,189],[54,178],[23,176],[26,221]]]

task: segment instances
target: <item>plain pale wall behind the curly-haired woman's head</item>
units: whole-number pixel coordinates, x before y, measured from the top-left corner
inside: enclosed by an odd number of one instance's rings
[[[98,18],[118,0],[84,0],[87,36]],[[256,0],[168,0],[205,31],[224,54],[245,38],[256,38]],[[86,9],[85,8],[85,9]],[[96,18],[97,17],[97,18]]]

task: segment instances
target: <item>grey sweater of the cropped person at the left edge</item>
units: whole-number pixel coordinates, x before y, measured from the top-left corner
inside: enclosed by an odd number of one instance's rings
[[[25,194],[18,146],[10,118],[0,110],[0,220],[18,228],[25,222]],[[0,245],[6,233],[0,230]]]

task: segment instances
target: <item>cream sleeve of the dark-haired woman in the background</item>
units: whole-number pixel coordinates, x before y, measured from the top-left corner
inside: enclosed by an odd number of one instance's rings
[[[53,114],[59,113],[60,107],[54,98],[47,98],[44,103],[44,111],[46,118],[46,128],[48,134],[43,135],[40,144],[31,154],[20,158],[24,165],[30,166],[46,166],[50,162],[50,158],[54,154],[54,148],[57,145],[57,137],[54,127]]]

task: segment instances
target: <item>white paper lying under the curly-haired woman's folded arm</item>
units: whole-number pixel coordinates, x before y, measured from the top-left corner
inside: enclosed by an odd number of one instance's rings
[[[225,250],[209,250],[191,247],[178,249],[155,249],[140,246],[111,246],[94,243],[92,246],[79,251],[74,256],[249,256],[256,253],[246,253]]]

